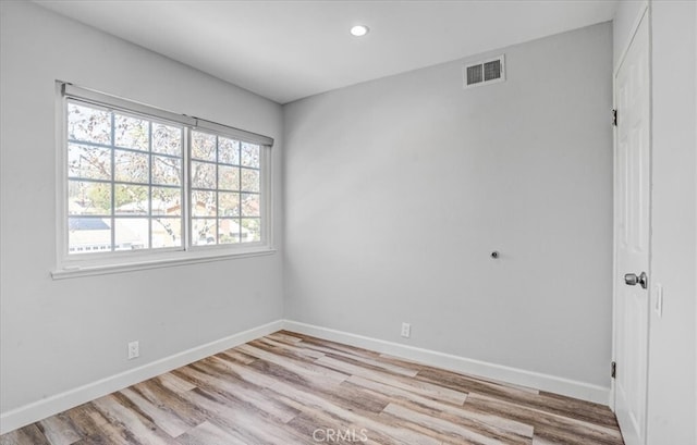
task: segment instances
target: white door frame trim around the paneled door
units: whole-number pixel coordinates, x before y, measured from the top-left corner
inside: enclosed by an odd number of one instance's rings
[[[641,20],[646,18],[647,25],[648,25],[648,39],[649,39],[649,45],[648,45],[648,78],[649,78],[649,94],[648,94],[648,101],[649,101],[649,119],[648,119],[648,132],[649,132],[649,187],[651,187],[651,177],[652,177],[652,159],[653,159],[653,151],[652,151],[652,70],[651,70],[651,35],[652,35],[652,30],[651,30],[651,8],[650,8],[650,0],[644,0],[643,4],[639,7],[639,10],[636,14],[636,17],[634,18],[634,22],[632,24],[632,28],[629,30],[629,35],[627,40],[624,42],[624,46],[622,48],[622,52],[620,58],[617,59],[616,65],[614,66],[613,71],[612,71],[612,108],[614,110],[616,110],[617,107],[617,88],[616,88],[616,78],[617,78],[617,74],[620,72],[620,67],[622,66],[622,64],[624,63],[624,60],[626,58],[626,54],[629,50],[629,47],[632,46],[632,42],[634,41],[634,37],[636,36],[636,32],[639,28],[639,25],[641,24]],[[621,112],[621,111],[620,111]],[[617,287],[621,285],[620,282],[617,281],[617,274],[621,272],[617,268],[617,248],[619,248],[619,239],[617,239],[617,221],[619,221],[619,211],[620,209],[617,208],[617,193],[619,193],[619,188],[617,188],[617,180],[619,180],[619,174],[617,174],[617,128],[616,126],[613,127],[612,131],[612,158],[613,158],[613,181],[612,181],[612,186],[613,186],[613,208],[612,208],[612,215],[613,215],[613,222],[612,222],[612,277],[613,277],[613,284],[612,284],[612,361],[616,361],[616,339],[617,339],[617,322],[616,322],[616,307],[617,307]],[[649,252],[649,262],[648,262],[648,270],[646,271],[649,275],[649,288],[648,288],[648,297],[649,297],[649,316],[648,316],[648,320],[647,320],[647,335],[648,335],[648,343],[647,343],[647,386],[648,386],[648,375],[649,375],[649,369],[648,369],[648,363],[650,361],[650,332],[651,332],[651,318],[650,318],[650,308],[652,307],[651,301],[652,301],[652,292],[651,292],[651,281],[650,281],[650,276],[651,276],[651,190],[649,188],[649,243],[648,243],[648,252]],[[620,363],[617,363],[620,366]],[[621,368],[620,368],[620,372]],[[615,392],[615,380],[611,379],[610,382],[610,400],[609,400],[609,406],[610,409],[614,412],[615,410],[615,396],[616,396],[616,392]],[[648,387],[647,387],[647,392],[646,392],[646,417],[648,419],[648,411],[649,411],[649,405],[648,405]],[[646,425],[645,425],[646,427]],[[646,432],[645,432],[645,436],[646,436]]]

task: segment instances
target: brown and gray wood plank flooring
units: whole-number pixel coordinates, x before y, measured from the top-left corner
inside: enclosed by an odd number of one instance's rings
[[[1,445],[622,445],[604,406],[291,332],[0,436]]]

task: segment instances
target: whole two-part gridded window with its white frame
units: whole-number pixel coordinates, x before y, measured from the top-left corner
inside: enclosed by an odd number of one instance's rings
[[[59,268],[269,250],[272,139],[61,84]]]

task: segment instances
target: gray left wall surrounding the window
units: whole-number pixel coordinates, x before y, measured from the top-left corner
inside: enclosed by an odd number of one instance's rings
[[[280,255],[51,280],[56,79],[276,137],[277,198],[281,108],[29,2],[0,14],[0,410],[282,318]]]

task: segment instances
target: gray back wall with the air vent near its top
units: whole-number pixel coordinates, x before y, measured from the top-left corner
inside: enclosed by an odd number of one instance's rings
[[[286,317],[608,387],[612,27],[503,52],[284,107]]]

